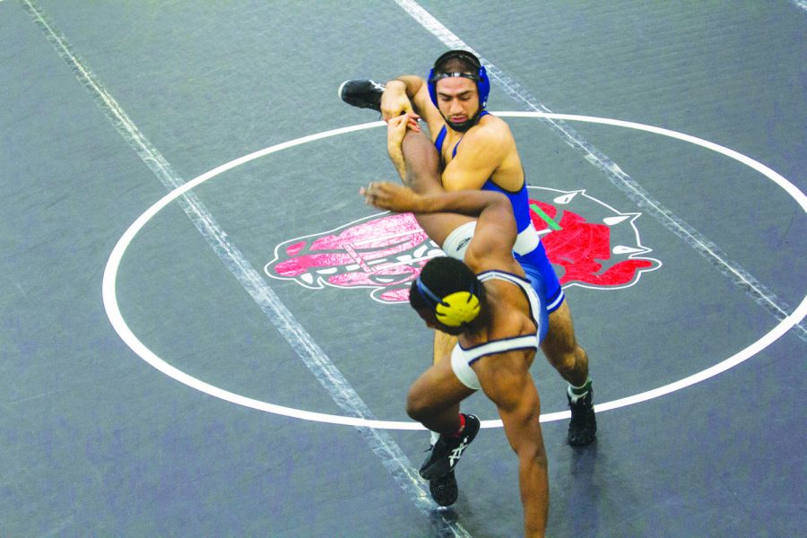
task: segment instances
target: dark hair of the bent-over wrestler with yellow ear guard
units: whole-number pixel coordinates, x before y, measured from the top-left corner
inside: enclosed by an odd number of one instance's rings
[[[418,280],[412,282],[409,290],[409,304],[415,310],[434,309],[435,299],[428,297],[418,287],[418,281],[440,298],[447,297],[456,291],[470,291],[473,295],[481,296],[484,288],[480,285],[471,268],[463,262],[448,256],[431,258],[423,265]]]

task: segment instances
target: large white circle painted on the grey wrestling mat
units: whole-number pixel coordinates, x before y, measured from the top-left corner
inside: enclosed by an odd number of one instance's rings
[[[603,125],[621,126],[637,129],[640,131],[646,131],[649,133],[662,134],[664,136],[677,138],[684,142],[694,143],[696,145],[705,147],[709,150],[722,153],[734,159],[735,161],[740,161],[742,162],[742,164],[745,164],[751,167],[752,169],[756,169],[762,175],[766,176],[768,179],[777,183],[779,187],[785,189],[785,192],[791,195],[791,197],[793,197],[794,200],[802,207],[805,213],[807,213],[807,196],[805,196],[801,190],[795,187],[790,181],[779,175],[776,171],[768,168],[759,161],[754,161],[750,157],[743,155],[740,152],[735,152],[729,148],[726,148],[716,143],[709,142],[707,140],[703,140],[696,136],[691,136],[690,134],[683,134],[677,131],[671,131],[669,129],[664,129],[661,127],[647,126],[645,124],[638,124],[635,122],[612,119],[607,117],[579,116],[572,114],[555,114],[547,112],[497,112],[497,114],[502,117],[545,117],[549,119],[582,121]],[[330,131],[324,131],[322,133],[310,134],[308,136],[303,136],[301,138],[297,138],[288,142],[278,143],[273,146],[269,146],[263,150],[249,153],[243,157],[239,157],[239,159],[235,159],[233,161],[224,163],[219,167],[211,169],[202,174],[201,176],[191,179],[184,185],[175,188],[174,190],[170,191],[167,195],[163,196],[155,204],[152,204],[151,207],[149,207],[142,215],[140,215],[140,217],[138,217],[129,226],[126,232],[124,232],[123,236],[121,236],[121,238],[118,239],[115,247],[112,249],[112,252],[109,255],[107,265],[104,268],[103,282],[101,285],[101,294],[103,298],[104,308],[107,312],[107,317],[110,323],[112,324],[113,328],[115,329],[121,340],[123,340],[124,343],[126,343],[126,345],[132,351],[134,351],[134,353],[136,353],[143,360],[152,365],[154,369],[158,369],[166,376],[172,377],[178,382],[190,386],[192,388],[195,388],[196,390],[199,390],[200,392],[203,392],[207,395],[212,395],[216,398],[220,398],[221,400],[225,400],[232,404],[238,404],[252,409],[256,409],[257,411],[272,412],[282,416],[288,416],[291,418],[301,419],[305,421],[319,421],[345,426],[379,428],[386,430],[424,430],[421,424],[417,422],[370,421],[367,419],[361,419],[357,417],[346,417],[343,415],[334,415],[323,412],[308,412],[292,407],[269,404],[261,400],[256,400],[254,398],[248,398],[247,396],[232,393],[218,386],[213,386],[209,383],[202,381],[201,379],[188,375],[187,373],[171,366],[168,362],[158,357],[145,344],[143,344],[137,338],[134,332],[132,332],[129,326],[126,325],[126,320],[121,314],[120,308],[117,304],[117,291],[116,291],[117,271],[120,267],[121,260],[123,259],[123,256],[126,253],[126,248],[129,246],[132,240],[134,240],[134,237],[137,235],[137,233],[143,229],[143,226],[146,224],[146,222],[150,221],[154,217],[154,215],[159,213],[166,205],[176,200],[179,196],[184,195],[185,193],[187,193],[187,191],[191,190],[192,188],[198,187],[205,181],[214,178],[227,170],[234,169],[249,161],[254,161],[260,157],[269,155],[270,153],[279,152],[281,150],[288,149],[303,143],[314,142],[316,140],[321,140],[338,134],[346,134],[384,125],[385,123],[383,121],[375,121],[360,124],[357,126],[341,127],[337,129],[332,129]],[[681,390],[681,388],[699,383],[700,381],[703,381],[709,377],[714,377],[727,369],[731,369],[734,366],[737,366],[744,360],[750,359],[751,357],[759,353],[759,351],[762,351],[765,348],[767,348],[768,345],[770,345],[771,343],[776,342],[778,338],[786,334],[787,331],[789,331],[792,327],[794,327],[794,325],[801,322],[801,320],[805,316],[807,316],[807,295],[805,295],[805,298],[802,300],[802,303],[799,305],[798,308],[794,310],[792,314],[785,317],[785,319],[783,319],[767,334],[762,336],[758,341],[752,343],[750,346],[746,347],[742,351],[735,353],[728,359],[723,360],[708,369],[704,369],[696,374],[693,374],[690,377],[685,377],[679,381],[675,381],[668,385],[660,386],[655,389],[639,393],[638,395],[631,395],[625,398],[620,398],[618,400],[605,402],[603,404],[596,404],[595,409],[597,412],[603,412],[618,409],[620,407],[625,407],[631,404],[638,404],[641,402],[645,402],[647,400],[651,400],[653,398],[657,398],[662,395],[668,395],[674,391]],[[568,417],[569,417],[568,411],[545,413],[541,415],[541,421],[542,422],[560,421],[567,419]],[[499,420],[482,421],[482,428],[500,428],[501,426],[502,423]]]

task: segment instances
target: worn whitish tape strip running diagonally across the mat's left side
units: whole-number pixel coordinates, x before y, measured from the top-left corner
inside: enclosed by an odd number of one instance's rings
[[[31,20],[43,31],[48,43],[70,66],[76,78],[82,82],[84,88],[90,93],[112,126],[115,127],[117,133],[137,152],[143,163],[152,170],[166,188],[173,188],[172,192],[180,190],[187,192],[187,189],[183,190],[182,188],[184,185],[183,179],[170,167],[169,162],[165,160],[161,152],[134,125],[126,111],[108,93],[103,83],[92,73],[89,66],[82,61],[81,56],[74,51],[65,36],[49,21],[47,15],[39,8],[36,1],[22,0],[22,6],[29,13]],[[343,412],[369,419],[372,418],[369,408],[347,383],[342,373],[336,369],[333,362],[325,355],[325,352],[317,346],[317,343],[314,342],[305,328],[297,323],[288,308],[285,308],[285,305],[277,299],[260,273],[257,273],[249,265],[247,259],[240,253],[238,247],[227,238],[227,234],[215,221],[213,215],[207,211],[201,200],[194,193],[188,193],[187,195],[181,195],[178,204],[194,223],[196,230],[199,230],[202,234],[207,244],[213,248],[216,256],[219,256],[221,262],[236,277],[239,284],[256,301],[266,317],[269,318],[297,353],[299,359],[304,362],[311,374],[325,388],[334,403]],[[165,364],[164,368],[166,372],[170,372],[169,375],[172,375],[172,377],[185,378],[183,382],[198,381],[178,369],[170,367],[168,364]],[[207,389],[210,394],[219,393],[219,397],[224,396],[224,399],[233,396],[239,397],[227,391],[221,391],[221,389],[214,386],[208,385]],[[357,430],[369,449],[381,460],[386,470],[392,475],[393,480],[404,490],[404,493],[412,500],[415,507],[424,515],[430,516],[432,526],[439,531],[441,536],[451,534],[458,538],[470,537],[470,534],[465,531],[462,525],[456,521],[451,521],[444,514],[436,512],[437,504],[430,499],[428,490],[425,489],[412,463],[388,432],[368,427],[357,427]]]

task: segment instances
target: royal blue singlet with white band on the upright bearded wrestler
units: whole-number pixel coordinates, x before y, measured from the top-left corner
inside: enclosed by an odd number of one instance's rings
[[[490,114],[490,112],[482,110],[479,117],[487,114]],[[440,155],[443,154],[443,143],[446,140],[446,134],[447,126],[443,126],[437,140],[434,142]],[[452,157],[456,156],[458,146],[459,143],[456,143],[452,151]],[[516,260],[524,268],[524,272],[533,284],[538,297],[546,305],[547,313],[555,311],[563,303],[565,296],[563,289],[560,287],[558,275],[555,274],[555,270],[546,256],[546,250],[543,248],[538,232],[533,226],[533,221],[530,217],[530,202],[526,181],[517,192],[511,192],[499,187],[489,178],[482,185],[482,190],[497,191],[506,195],[510,200],[510,204],[513,206],[513,214],[516,216],[516,230],[518,231],[518,238],[514,247]],[[542,319],[542,322],[546,322],[546,320]],[[548,323],[542,323],[542,326],[547,327]]]

